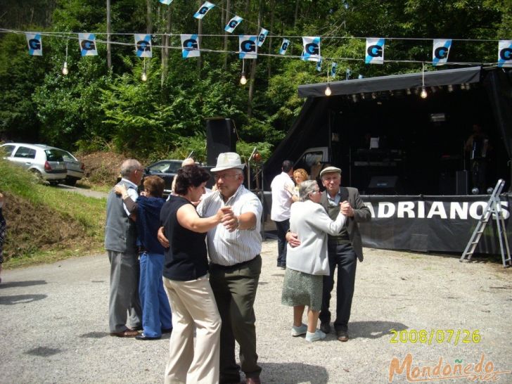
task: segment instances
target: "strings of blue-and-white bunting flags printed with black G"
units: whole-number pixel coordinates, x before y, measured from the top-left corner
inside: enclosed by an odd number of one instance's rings
[[[173,0],[160,0],[160,3],[170,5]],[[205,1],[205,3],[200,6],[198,11],[193,14],[193,17],[201,20],[207,15],[207,13],[215,8],[216,5],[210,3],[210,1]],[[222,7],[219,7],[223,11],[225,11]],[[233,33],[236,27],[242,23],[244,19],[240,16],[233,14],[233,18],[229,20],[224,27],[224,30],[228,33]],[[248,21],[248,23],[251,23]],[[251,23],[252,24],[252,23]],[[0,32],[11,32],[18,34],[25,34],[27,39],[28,51],[31,56],[42,56],[43,55],[43,36],[51,36],[51,37],[59,37],[65,39],[72,39],[72,34],[75,32],[22,32],[16,30],[5,30],[0,29]],[[117,33],[113,33],[111,35],[116,35]],[[123,33],[129,34],[129,33]],[[260,48],[268,35],[282,37],[283,40],[279,49],[276,53],[259,53],[258,48]],[[218,53],[233,53],[238,54],[238,58],[241,59],[255,59],[258,56],[271,56],[271,57],[288,57],[288,58],[300,58],[301,60],[312,61],[316,63],[316,70],[321,71],[321,65],[325,60],[331,61],[331,77],[335,77],[336,68],[338,64],[335,63],[335,60],[364,60],[366,64],[383,64],[383,63],[424,63],[420,60],[390,60],[386,58],[384,60],[384,49],[385,49],[385,41],[386,39],[381,38],[359,38],[359,37],[302,37],[302,53],[300,56],[287,55],[288,48],[290,46],[290,39],[294,37],[283,37],[272,34],[269,30],[262,28],[260,30],[260,34],[257,35],[238,35],[238,51],[226,51],[226,50],[214,50],[214,49],[204,49],[200,48],[200,39],[199,37],[203,36],[224,36],[224,35],[211,35],[211,34],[179,34],[181,40],[181,46],[156,46],[152,43],[151,37],[158,36],[176,36],[176,34],[133,34],[134,36],[134,46],[136,56],[140,58],[151,58],[153,56],[153,48],[167,48],[167,49],[181,49],[181,56],[186,58],[194,58],[200,56],[201,52],[218,52]],[[75,38],[76,39],[76,38]],[[97,56],[97,46],[98,42],[101,43],[110,43],[113,45],[129,45],[128,43],[124,43],[121,41],[103,41],[97,40],[95,33],[77,33],[77,39],[79,43],[79,49],[82,56]],[[321,39],[366,39],[366,50],[364,54],[364,58],[325,58],[321,56]],[[397,40],[402,38],[388,38],[388,40]],[[411,40],[412,38],[403,38],[407,40]],[[509,67],[512,68],[512,40],[475,40],[475,39],[418,39],[418,40],[431,40],[433,41],[433,50],[432,50],[432,65],[444,65],[444,64],[452,64],[452,65],[497,65],[498,67]],[[469,62],[448,62],[449,52],[452,48],[453,41],[498,41],[498,57],[497,61],[494,63],[469,63]],[[67,48],[66,48],[67,51]]]

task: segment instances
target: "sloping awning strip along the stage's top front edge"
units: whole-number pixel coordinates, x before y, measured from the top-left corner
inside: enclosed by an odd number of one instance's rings
[[[461,68],[456,70],[438,70],[434,72],[407,73],[369,77],[364,79],[329,82],[331,96],[395,91],[422,87],[440,87],[449,84],[471,84],[480,82],[481,67]],[[300,85],[300,97],[325,97],[327,83]]]

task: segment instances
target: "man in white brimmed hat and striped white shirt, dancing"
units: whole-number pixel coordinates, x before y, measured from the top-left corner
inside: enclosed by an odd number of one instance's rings
[[[243,186],[244,167],[237,153],[220,153],[217,165],[212,168],[217,191],[205,196],[197,207],[200,217],[210,217],[222,207],[231,207],[222,223],[210,229],[206,237],[210,285],[222,319],[221,384],[240,383],[240,370],[245,373],[245,383],[258,384],[262,371],[257,365],[253,308],[262,269],[262,203]],[[236,364],[235,340],[240,345],[241,366]]]

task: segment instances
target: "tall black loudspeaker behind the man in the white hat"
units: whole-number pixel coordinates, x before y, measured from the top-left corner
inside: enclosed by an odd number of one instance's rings
[[[236,152],[235,124],[219,117],[206,120],[206,159],[216,165],[219,153]]]

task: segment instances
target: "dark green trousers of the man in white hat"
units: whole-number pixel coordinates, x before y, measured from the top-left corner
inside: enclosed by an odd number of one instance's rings
[[[220,331],[220,383],[240,383],[240,369],[248,378],[257,378],[262,371],[257,365],[256,316],[254,300],[262,258],[257,255],[250,262],[223,267],[210,264],[212,286],[219,314]],[[240,364],[235,360],[235,340],[240,345]]]

